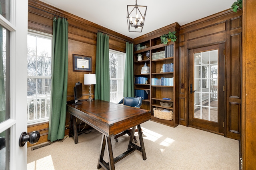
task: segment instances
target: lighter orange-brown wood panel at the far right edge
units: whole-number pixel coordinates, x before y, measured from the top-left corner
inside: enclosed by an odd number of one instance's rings
[[[243,170],[256,169],[256,1],[243,0],[242,158]]]

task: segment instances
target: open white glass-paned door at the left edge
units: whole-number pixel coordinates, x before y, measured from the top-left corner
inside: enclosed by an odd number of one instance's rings
[[[26,170],[28,0],[0,1],[0,169]]]

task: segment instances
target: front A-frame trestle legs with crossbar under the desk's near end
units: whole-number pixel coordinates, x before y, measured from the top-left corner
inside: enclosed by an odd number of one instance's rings
[[[98,160],[97,169],[100,169],[103,166],[106,170],[115,170],[115,163],[122,160],[124,157],[131,154],[135,150],[139,150],[140,152],[142,152],[142,158],[143,158],[143,160],[146,160],[146,152],[145,152],[145,148],[144,148],[144,142],[143,142],[143,138],[142,138],[142,132],[140,129],[140,125],[137,125],[138,135],[139,135],[139,139],[140,139],[140,147],[138,145],[135,145],[134,143],[132,143],[132,140],[134,138],[135,129],[136,129],[136,126],[134,126],[132,128],[132,135],[130,136],[128,150],[126,152],[120,154],[116,158],[114,158],[114,156],[113,156],[113,150],[112,150],[112,144],[111,144],[110,137],[107,137],[106,135],[102,134],[102,144],[100,146],[100,156],[99,156],[99,160]],[[104,151],[105,151],[106,146],[107,146],[107,152],[108,152],[108,163],[106,163],[103,160]]]

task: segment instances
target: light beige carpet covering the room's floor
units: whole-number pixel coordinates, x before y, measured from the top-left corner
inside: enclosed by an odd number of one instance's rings
[[[138,150],[115,164],[116,170],[239,170],[238,141],[178,125],[168,127],[153,121],[141,124],[147,159]],[[137,140],[138,134],[136,133]],[[66,137],[65,137],[66,138]],[[78,144],[63,142],[31,151],[28,170],[97,170],[102,134],[93,130],[78,136]],[[128,136],[112,139],[114,157],[125,152]],[[137,143],[139,145],[139,141]],[[104,160],[108,162],[106,157]],[[100,168],[103,170],[103,168]]]

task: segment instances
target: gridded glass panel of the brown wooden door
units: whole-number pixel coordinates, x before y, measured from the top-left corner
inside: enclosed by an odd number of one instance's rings
[[[218,122],[218,50],[194,54],[194,118]]]

